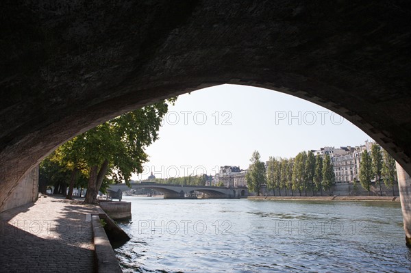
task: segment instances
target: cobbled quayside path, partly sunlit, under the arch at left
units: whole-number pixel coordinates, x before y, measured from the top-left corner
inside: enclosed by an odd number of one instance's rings
[[[48,196],[0,213],[0,272],[95,272],[93,211]]]

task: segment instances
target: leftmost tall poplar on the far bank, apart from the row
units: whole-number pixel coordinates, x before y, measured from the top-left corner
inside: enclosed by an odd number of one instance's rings
[[[245,179],[247,180],[247,185],[251,192],[256,192],[257,196],[260,196],[261,185],[266,183],[265,166],[262,161],[260,161],[260,153],[254,151],[251,156],[251,165],[247,171]]]

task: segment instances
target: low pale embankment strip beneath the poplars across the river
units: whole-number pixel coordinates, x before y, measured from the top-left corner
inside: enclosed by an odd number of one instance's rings
[[[258,200],[384,201],[399,202],[399,196],[248,196]]]

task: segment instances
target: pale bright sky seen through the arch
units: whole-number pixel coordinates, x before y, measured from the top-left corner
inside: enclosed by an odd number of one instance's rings
[[[149,162],[132,179],[212,174],[220,166],[247,169],[253,151],[262,161],[295,157],[324,146],[372,140],[338,114],[273,90],[221,85],[180,95],[169,107]]]

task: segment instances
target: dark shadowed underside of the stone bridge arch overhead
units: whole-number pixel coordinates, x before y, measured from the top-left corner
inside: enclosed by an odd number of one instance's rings
[[[1,1],[0,211],[78,133],[222,83],[286,92],[411,173],[408,1]]]

